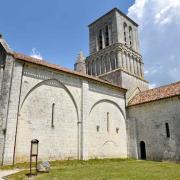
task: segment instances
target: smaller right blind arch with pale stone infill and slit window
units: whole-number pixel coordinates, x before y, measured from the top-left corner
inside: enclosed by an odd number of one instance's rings
[[[110,99],[95,102],[87,124],[90,157],[127,157],[126,117],[120,105]]]

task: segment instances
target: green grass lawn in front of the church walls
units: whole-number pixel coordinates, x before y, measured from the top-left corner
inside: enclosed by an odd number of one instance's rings
[[[89,161],[57,161],[51,163],[50,173],[41,173],[37,180],[180,180],[180,164],[152,161],[135,161],[121,159]],[[10,180],[26,179],[23,171],[8,178]]]

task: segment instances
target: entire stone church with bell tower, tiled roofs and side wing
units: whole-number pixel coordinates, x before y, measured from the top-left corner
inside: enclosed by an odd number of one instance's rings
[[[89,25],[75,70],[11,50],[0,37],[0,161],[180,160],[180,82],[148,89],[138,25],[114,8]]]

